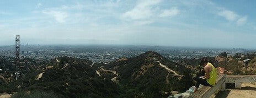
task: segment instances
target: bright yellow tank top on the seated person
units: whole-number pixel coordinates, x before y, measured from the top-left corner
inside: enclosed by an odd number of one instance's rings
[[[211,63],[207,63],[210,64],[212,67],[211,72],[209,72],[210,78],[207,79],[207,83],[209,83],[210,85],[214,86],[217,80],[217,70],[216,68],[211,64]]]

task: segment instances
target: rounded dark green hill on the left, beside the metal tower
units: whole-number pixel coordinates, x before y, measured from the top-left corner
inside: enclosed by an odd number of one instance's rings
[[[114,97],[120,94],[119,86],[109,79],[98,77],[93,62],[86,59],[60,57],[46,66],[26,75],[23,81],[9,84],[10,92],[46,91],[57,97]]]

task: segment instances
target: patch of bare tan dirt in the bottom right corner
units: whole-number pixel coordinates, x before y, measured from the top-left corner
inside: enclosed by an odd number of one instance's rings
[[[215,98],[233,98],[233,97],[256,97],[256,85],[252,83],[242,83],[241,89],[227,89],[220,91]]]

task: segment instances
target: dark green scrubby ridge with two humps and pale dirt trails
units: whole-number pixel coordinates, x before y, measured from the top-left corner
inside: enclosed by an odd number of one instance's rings
[[[153,51],[109,64],[59,57],[33,70],[1,88],[8,93],[53,92],[58,97],[167,97],[193,85],[190,69]]]

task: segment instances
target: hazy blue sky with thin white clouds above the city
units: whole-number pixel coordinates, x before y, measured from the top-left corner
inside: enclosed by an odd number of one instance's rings
[[[254,0],[0,2],[0,45],[150,45],[256,49]]]

